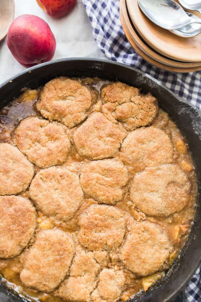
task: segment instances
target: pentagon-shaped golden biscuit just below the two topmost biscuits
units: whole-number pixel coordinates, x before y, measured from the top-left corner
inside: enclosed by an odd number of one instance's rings
[[[102,113],[93,113],[75,131],[74,143],[80,155],[91,159],[114,156],[126,133],[109,121]]]

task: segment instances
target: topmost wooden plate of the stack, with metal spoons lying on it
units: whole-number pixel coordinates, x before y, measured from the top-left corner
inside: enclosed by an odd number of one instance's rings
[[[155,25],[140,10],[137,0],[127,0],[127,8],[136,30],[158,53],[174,60],[201,63],[201,34],[183,38]]]

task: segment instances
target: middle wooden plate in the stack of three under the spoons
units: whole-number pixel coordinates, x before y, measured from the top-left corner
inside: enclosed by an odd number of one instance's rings
[[[168,57],[165,57],[163,55],[160,55],[160,53],[157,53],[153,48],[149,47],[149,45],[140,37],[138,34],[136,28],[134,27],[126,5],[126,0],[121,0],[121,10],[124,18],[125,25],[127,27],[127,30],[129,31],[130,36],[132,37],[133,41],[137,44],[137,46],[146,53],[147,56],[151,57],[155,61],[172,66],[172,67],[179,67],[179,68],[189,68],[189,67],[198,67],[200,66],[200,62],[181,62],[176,61],[173,59],[170,59]]]

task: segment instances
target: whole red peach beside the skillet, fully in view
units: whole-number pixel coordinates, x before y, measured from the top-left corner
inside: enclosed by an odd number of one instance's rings
[[[9,27],[7,45],[15,59],[25,67],[50,61],[56,41],[49,25],[34,15],[21,15]]]

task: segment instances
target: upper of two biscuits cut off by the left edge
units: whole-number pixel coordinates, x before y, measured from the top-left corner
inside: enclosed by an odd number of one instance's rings
[[[33,175],[33,165],[17,147],[0,143],[0,195],[25,191]]]

